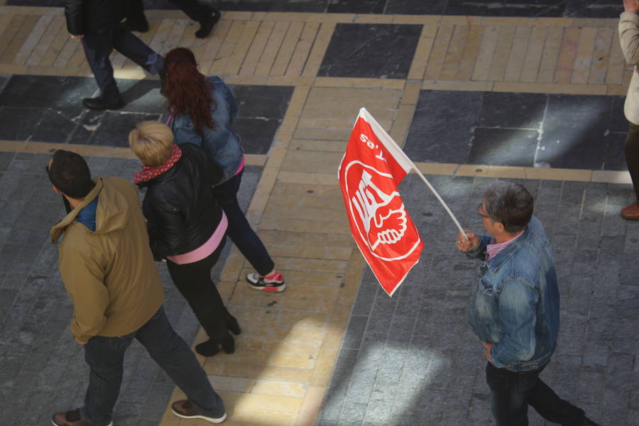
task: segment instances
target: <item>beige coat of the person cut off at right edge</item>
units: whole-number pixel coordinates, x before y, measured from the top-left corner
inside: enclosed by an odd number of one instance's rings
[[[637,13],[623,12],[619,20],[619,39],[621,51],[626,62],[633,65],[633,78],[630,80],[623,114],[632,124],[639,126],[639,16]]]

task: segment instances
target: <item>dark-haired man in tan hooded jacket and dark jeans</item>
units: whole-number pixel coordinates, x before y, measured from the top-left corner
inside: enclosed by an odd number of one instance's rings
[[[224,421],[222,399],[162,307],[162,282],[148,244],[138,193],[122,178],[92,180],[82,156],[55,151],[47,168],[55,192],[71,212],[51,229],[62,281],[74,306],[71,334],[84,345],[90,368],[84,405],[57,413],[53,425],[112,425],[124,352],[133,338],[182,388],[173,403],[183,418]]]

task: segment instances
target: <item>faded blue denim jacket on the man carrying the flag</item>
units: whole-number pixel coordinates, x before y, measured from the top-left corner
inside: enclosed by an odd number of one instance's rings
[[[486,258],[488,236],[469,257]],[[482,342],[493,343],[498,368],[530,371],[550,361],[559,332],[559,289],[550,242],[532,217],[522,236],[479,266],[466,322]]]

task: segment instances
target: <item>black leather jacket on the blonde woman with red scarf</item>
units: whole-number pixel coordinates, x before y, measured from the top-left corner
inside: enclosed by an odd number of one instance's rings
[[[199,146],[183,143],[180,149],[172,168],[138,184],[147,188],[142,212],[155,260],[202,246],[222,219],[211,189],[222,179],[222,168]]]

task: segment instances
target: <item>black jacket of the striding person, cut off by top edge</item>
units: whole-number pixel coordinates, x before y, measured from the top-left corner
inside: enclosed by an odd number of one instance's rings
[[[124,0],[66,0],[65,17],[70,34],[102,33],[124,18]]]

